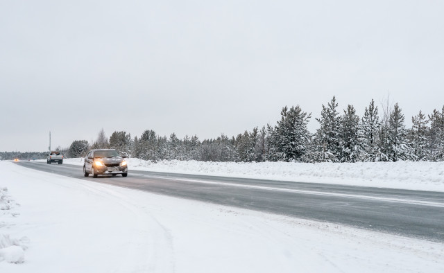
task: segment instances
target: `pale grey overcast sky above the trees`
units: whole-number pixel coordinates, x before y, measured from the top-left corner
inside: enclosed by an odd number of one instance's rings
[[[363,2],[0,0],[0,150],[232,136],[334,95],[409,127],[444,105],[444,1]]]

